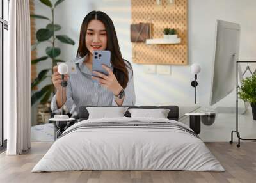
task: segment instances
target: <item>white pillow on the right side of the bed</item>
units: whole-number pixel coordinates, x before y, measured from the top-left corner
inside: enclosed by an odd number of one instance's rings
[[[170,109],[128,109],[131,118],[134,117],[151,117],[151,118],[167,118]]]

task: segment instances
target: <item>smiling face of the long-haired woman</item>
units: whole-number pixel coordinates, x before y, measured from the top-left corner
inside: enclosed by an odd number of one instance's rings
[[[105,50],[107,47],[107,32],[104,24],[99,20],[88,23],[86,30],[86,47],[92,54],[95,50]]]

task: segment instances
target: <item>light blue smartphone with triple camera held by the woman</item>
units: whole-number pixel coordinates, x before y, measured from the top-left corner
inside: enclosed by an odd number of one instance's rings
[[[111,52],[108,50],[99,50],[93,51],[93,58],[92,58],[92,71],[101,72],[108,76],[108,72],[102,67],[102,64],[106,65],[107,67],[111,67]],[[92,74],[92,76],[99,77],[97,74]],[[94,80],[96,81],[97,80]]]

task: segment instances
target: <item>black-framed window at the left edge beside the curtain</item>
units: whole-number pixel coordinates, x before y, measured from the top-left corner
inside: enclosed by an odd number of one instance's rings
[[[9,0],[0,0],[0,151],[6,139],[6,124],[3,122],[3,63],[7,59]]]

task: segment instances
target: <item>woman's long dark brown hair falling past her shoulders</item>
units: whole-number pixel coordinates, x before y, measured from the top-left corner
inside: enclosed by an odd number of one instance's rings
[[[86,17],[84,17],[84,20],[80,29],[79,46],[77,49],[76,56],[84,57],[86,56],[86,54],[89,54],[89,51],[86,47],[85,38],[86,38],[88,23],[91,20],[100,20],[104,24],[107,32],[107,38],[108,38],[106,50],[111,51],[111,63],[114,68],[113,74],[115,74],[118,83],[121,84],[123,88],[126,88],[127,83],[129,81],[129,72],[126,66],[131,69],[132,75],[133,75],[132,66],[131,66],[131,63],[129,63],[129,61],[124,60],[122,58],[114,24],[106,13],[100,12],[100,11],[92,11],[88,13]]]

